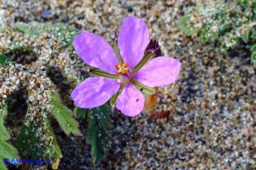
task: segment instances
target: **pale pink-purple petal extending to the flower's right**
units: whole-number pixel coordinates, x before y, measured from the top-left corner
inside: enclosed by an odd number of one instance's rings
[[[154,58],[142,67],[135,78],[150,87],[169,85],[179,78],[181,62],[174,58]]]

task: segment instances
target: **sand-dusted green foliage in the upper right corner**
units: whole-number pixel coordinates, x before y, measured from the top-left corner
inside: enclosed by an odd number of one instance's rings
[[[237,4],[217,1],[207,6],[196,6],[181,18],[179,27],[201,42],[218,40],[221,50],[227,51],[236,47],[240,40],[246,44],[251,42],[250,38],[255,40],[255,7],[255,0],[238,0]],[[256,60],[252,59],[254,62]]]

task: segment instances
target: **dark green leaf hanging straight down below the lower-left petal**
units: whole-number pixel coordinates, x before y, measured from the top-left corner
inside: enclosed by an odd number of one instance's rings
[[[108,129],[111,127],[110,106],[102,105],[90,109],[88,112],[88,132],[86,139],[91,144],[93,163],[103,160],[105,150],[109,146],[110,134]]]

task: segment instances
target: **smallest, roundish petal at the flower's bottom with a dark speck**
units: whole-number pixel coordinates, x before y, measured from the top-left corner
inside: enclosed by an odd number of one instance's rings
[[[124,87],[117,98],[117,109],[126,116],[134,117],[142,112],[144,101],[143,94],[135,86],[129,84]]]

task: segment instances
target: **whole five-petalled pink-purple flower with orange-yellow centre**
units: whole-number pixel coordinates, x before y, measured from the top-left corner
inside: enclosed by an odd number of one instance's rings
[[[147,26],[137,17],[125,18],[114,50],[103,37],[88,31],[76,36],[75,51],[86,64],[96,67],[91,73],[100,77],[87,78],[75,87],[71,94],[75,105],[93,108],[112,97],[112,103],[126,116],[142,112],[143,93],[153,94],[153,87],[174,83],[181,69],[177,59],[154,58],[159,48],[150,49],[155,45],[149,43]]]

